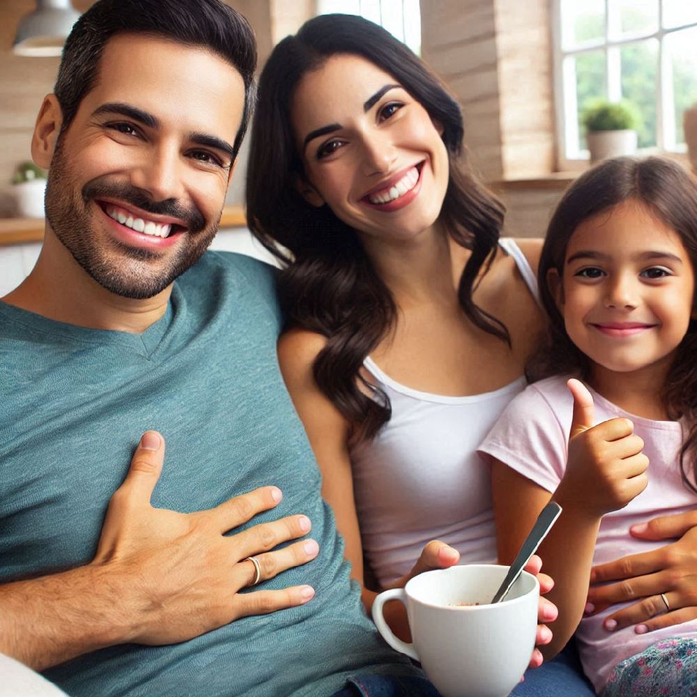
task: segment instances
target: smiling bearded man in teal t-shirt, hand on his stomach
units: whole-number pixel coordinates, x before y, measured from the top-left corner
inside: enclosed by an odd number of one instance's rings
[[[270,268],[202,256],[255,62],[218,0],[100,0],[40,109],[45,243],[0,302],[0,652],[72,696],[434,694],[349,581]]]

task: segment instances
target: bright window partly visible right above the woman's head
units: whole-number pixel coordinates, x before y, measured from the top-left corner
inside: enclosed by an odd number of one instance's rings
[[[421,15],[419,0],[319,0],[319,15],[332,12],[360,15],[380,24],[392,36],[421,53]]]

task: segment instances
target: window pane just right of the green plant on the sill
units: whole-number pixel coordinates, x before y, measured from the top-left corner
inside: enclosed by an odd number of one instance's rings
[[[622,97],[638,107],[643,124],[638,129],[638,146],[656,145],[656,99],[658,41],[648,39],[620,49]]]

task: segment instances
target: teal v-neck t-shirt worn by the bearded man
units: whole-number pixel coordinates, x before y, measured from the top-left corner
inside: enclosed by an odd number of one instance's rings
[[[356,673],[415,669],[379,638],[276,359],[273,269],[208,252],[141,335],[55,322],[0,302],[0,580],[89,562],[143,431],[167,442],[153,505],[204,510],[267,484],[304,513],[319,556],[260,588],[309,583],[298,608],[178,645],[119,645],[45,671],[72,697],[326,697]],[[251,524],[251,523],[250,523]]]

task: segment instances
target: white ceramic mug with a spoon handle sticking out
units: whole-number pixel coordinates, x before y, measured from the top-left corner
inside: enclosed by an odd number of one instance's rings
[[[491,605],[507,571],[482,564],[420,574],[378,595],[373,620],[392,648],[420,662],[443,697],[505,697],[530,663],[539,599],[537,579],[523,572],[505,600]],[[406,605],[413,643],[385,622],[389,600]]]

